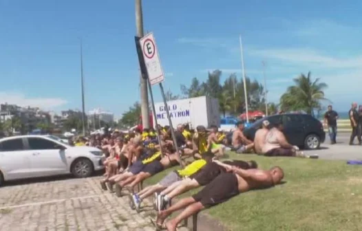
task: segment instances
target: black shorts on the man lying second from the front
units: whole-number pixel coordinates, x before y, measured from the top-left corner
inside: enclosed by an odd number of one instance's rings
[[[222,173],[222,167],[214,162],[210,162],[201,168],[198,173],[191,175],[190,178],[198,181],[200,186],[206,186],[206,184],[213,181],[220,173]]]

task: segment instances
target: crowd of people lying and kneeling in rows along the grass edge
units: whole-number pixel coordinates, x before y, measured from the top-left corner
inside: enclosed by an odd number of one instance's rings
[[[240,192],[275,186],[284,177],[278,166],[261,170],[254,161],[235,159],[221,162],[219,157],[224,155],[224,146],[222,139],[218,138],[217,128],[207,134],[203,126],[198,126],[191,140],[186,138],[184,141],[184,135],[180,135],[184,133],[182,129],[179,125],[175,131],[175,137],[179,136],[176,139],[178,152],[167,134],[161,136],[160,143],[151,146],[142,135],[131,137],[127,144],[119,146],[119,151],[115,153],[121,154],[117,158],[111,155],[105,161],[107,175],[100,181],[103,190],[115,191],[121,197],[123,188],[127,188],[130,206],[136,210],[140,210],[142,201],[153,196],[153,205],[158,210],[155,225],[176,230],[182,220],[200,210],[227,201]],[[193,162],[185,162],[187,157],[193,157]],[[175,165],[183,167],[169,173],[158,184],[134,192],[138,183]],[[167,208],[171,199],[201,186],[205,187],[195,195],[180,199]],[[173,212],[181,209],[184,210],[177,217],[164,222]]]

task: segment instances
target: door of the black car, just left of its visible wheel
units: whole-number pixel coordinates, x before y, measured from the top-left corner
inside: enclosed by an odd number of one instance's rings
[[[297,146],[304,144],[305,126],[303,121],[298,114],[282,115],[283,133],[290,144]]]

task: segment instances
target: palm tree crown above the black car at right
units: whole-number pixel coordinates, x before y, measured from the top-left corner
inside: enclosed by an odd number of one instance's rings
[[[324,89],[328,85],[319,80],[316,78],[313,81],[310,72],[307,76],[301,74],[295,78],[295,85],[288,87],[286,93],[280,98],[281,109],[284,111],[304,110],[313,115],[313,110],[321,107],[321,101],[328,100],[324,97]]]

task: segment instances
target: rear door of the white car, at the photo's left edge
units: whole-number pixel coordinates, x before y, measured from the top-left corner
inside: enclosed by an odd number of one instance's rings
[[[0,168],[7,180],[32,177],[31,157],[30,151],[24,149],[21,137],[0,143]]]

